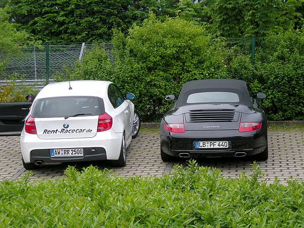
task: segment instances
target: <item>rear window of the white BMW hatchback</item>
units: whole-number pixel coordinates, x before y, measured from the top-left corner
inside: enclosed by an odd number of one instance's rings
[[[34,118],[97,116],[104,113],[103,100],[99,97],[51,97],[34,102],[31,116]]]

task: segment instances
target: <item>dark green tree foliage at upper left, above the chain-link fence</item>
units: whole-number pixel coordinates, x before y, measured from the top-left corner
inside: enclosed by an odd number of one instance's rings
[[[110,41],[115,27],[123,31],[136,21],[126,0],[12,0],[12,21],[51,42]]]

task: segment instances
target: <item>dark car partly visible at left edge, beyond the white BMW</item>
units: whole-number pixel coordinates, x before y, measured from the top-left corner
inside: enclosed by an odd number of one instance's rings
[[[31,102],[0,103],[0,135],[20,135]]]

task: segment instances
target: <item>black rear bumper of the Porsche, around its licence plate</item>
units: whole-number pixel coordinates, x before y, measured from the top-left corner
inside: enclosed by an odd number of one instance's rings
[[[229,148],[196,149],[196,141],[228,141]],[[175,157],[244,157],[262,153],[267,148],[267,131],[186,131],[161,134],[161,149]]]

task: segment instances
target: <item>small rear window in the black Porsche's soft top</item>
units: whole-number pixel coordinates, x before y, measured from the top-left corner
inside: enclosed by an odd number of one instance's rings
[[[231,92],[193,93],[187,98],[187,103],[235,103],[239,101],[239,95]]]

